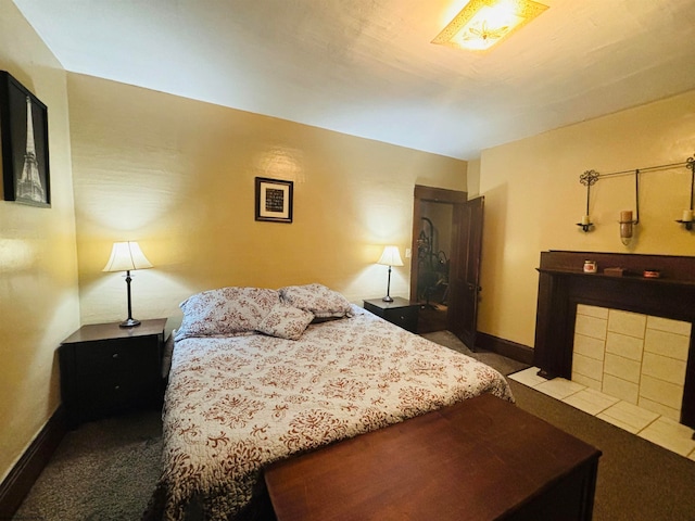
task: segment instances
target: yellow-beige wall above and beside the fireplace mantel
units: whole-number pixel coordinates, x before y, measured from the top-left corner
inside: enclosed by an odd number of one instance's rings
[[[483,151],[479,330],[533,346],[541,251],[695,255],[695,232],[674,223],[688,205],[685,168],[641,176],[641,223],[629,246],[618,220],[634,211],[633,176],[599,180],[591,192],[594,231],[576,226],[586,204],[583,171],[680,163],[694,152],[695,91]]]

